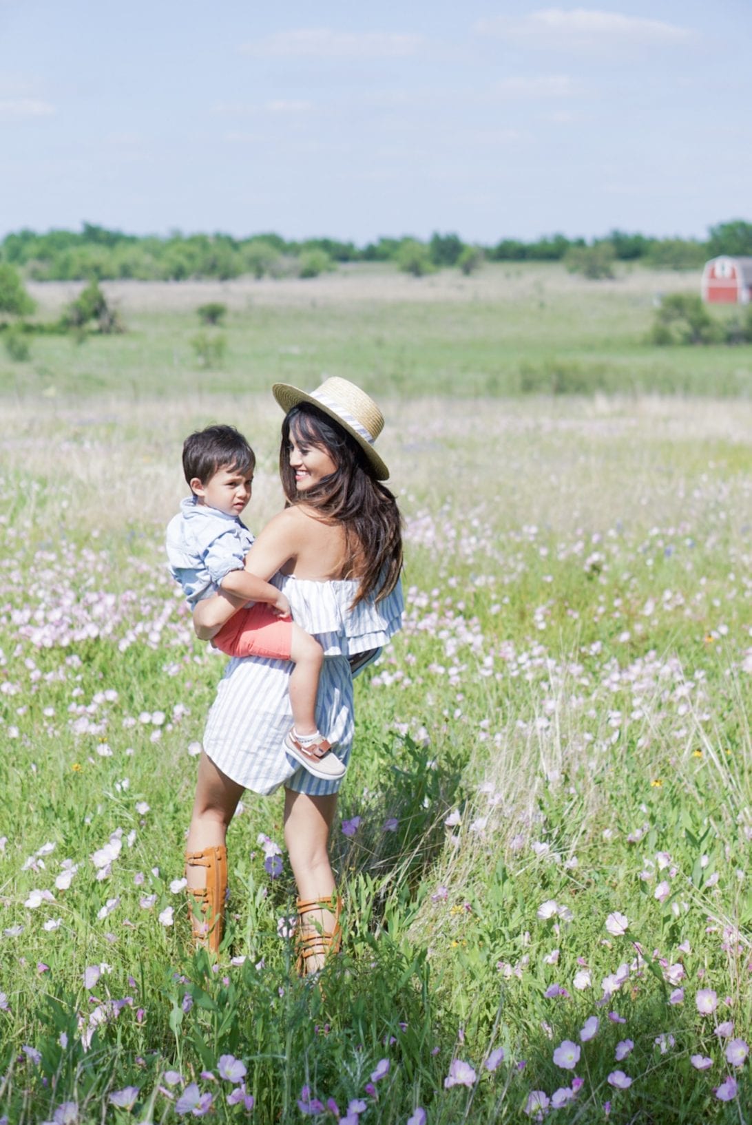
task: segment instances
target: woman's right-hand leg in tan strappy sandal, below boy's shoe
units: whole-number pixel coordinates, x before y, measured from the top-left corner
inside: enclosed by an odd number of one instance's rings
[[[322,902],[334,894],[334,875],[329,862],[329,832],[337,811],[337,794],[308,796],[285,790],[285,844],[297,883],[298,898]],[[331,910],[312,910],[301,922],[307,934],[332,934],[337,919]],[[315,972],[324,963],[323,954],[308,957],[306,971]]]

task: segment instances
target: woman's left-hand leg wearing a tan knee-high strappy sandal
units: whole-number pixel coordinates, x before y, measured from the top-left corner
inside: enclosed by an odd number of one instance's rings
[[[224,921],[227,825],[242,792],[242,785],[231,781],[211,758],[202,754],[186,845],[186,879],[193,907],[194,937],[215,952],[220,948]]]

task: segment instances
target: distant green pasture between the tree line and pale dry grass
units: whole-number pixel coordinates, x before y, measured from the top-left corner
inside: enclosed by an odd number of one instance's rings
[[[392,395],[523,393],[752,394],[752,346],[655,348],[646,343],[661,294],[697,292],[696,273],[634,268],[588,281],[559,264],[486,266],[415,279],[393,267],[348,267],[299,279],[109,282],[128,326],[116,339],[34,340],[32,358],[0,351],[0,394],[245,394],[270,378],[315,385],[352,376]],[[32,286],[39,317],[80,289]],[[226,354],[197,366],[196,308],[227,305]],[[727,315],[727,314],[726,314]]]

